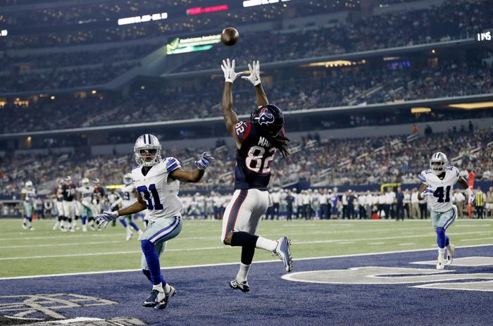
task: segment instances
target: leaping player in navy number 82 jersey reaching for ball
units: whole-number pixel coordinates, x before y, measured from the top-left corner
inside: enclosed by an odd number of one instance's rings
[[[232,85],[241,73],[235,73],[235,60],[223,61],[221,68],[225,76],[223,92],[223,117],[226,129],[236,141],[235,193],[223,216],[221,241],[230,246],[242,247],[239,272],[230,287],[243,292],[250,290],[247,275],[256,248],[271,251],[285,264],[287,272],[292,270],[290,240],[282,237],[270,240],[255,235],[258,221],[270,206],[267,187],[270,180],[270,163],[276,151],[283,157],[288,155],[283,129],[284,117],[280,108],[269,104],[263,92],[258,61],[248,65],[250,75],[242,78],[254,84],[256,104],[249,121],[239,121],[232,105]]]

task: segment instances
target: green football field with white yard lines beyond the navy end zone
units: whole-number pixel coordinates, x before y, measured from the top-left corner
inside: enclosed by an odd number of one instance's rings
[[[493,220],[456,220],[447,234],[456,246],[493,244]],[[0,219],[0,277],[140,268],[137,235],[125,241],[117,223],[102,232],[52,230],[54,220],[33,222],[35,231],[20,227],[20,219]],[[221,221],[185,220],[181,234],[161,256],[162,267],[239,262],[239,248],[220,244]],[[436,247],[430,220],[263,220],[258,235],[292,239],[297,258],[409,251]],[[277,259],[257,250],[255,261]]]

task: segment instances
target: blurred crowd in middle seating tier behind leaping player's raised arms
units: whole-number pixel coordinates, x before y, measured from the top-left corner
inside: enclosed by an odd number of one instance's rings
[[[300,68],[292,70],[287,79],[273,75],[272,82],[264,82],[264,88],[270,102],[283,111],[488,94],[493,89],[493,68],[491,63],[482,59],[489,53],[480,51],[478,54],[473,60],[462,63],[451,58],[437,58],[423,66],[416,63],[416,67],[390,65],[372,69],[357,65],[329,70],[318,68],[317,76],[311,75],[312,70]],[[102,78],[111,71],[94,68],[86,77],[87,80]],[[70,75],[73,72],[66,73]],[[82,76],[85,74],[80,73]],[[16,82],[15,88],[22,89],[25,85],[35,88],[36,82],[72,86],[70,80],[59,75],[32,83],[27,80]],[[6,84],[13,83],[12,80]],[[65,94],[56,96],[55,100],[49,96],[37,97],[36,101],[29,102],[28,107],[24,107],[23,101],[9,101],[0,108],[0,133],[217,117],[220,116],[222,84],[220,79],[169,80],[166,84],[147,87],[136,84],[129,94],[98,92],[82,97]],[[0,85],[0,89],[2,87],[4,85]],[[235,83],[234,95],[237,113],[249,114],[254,106],[251,85],[239,80]],[[461,113],[451,116],[457,118],[458,114]],[[473,118],[483,113],[468,114]],[[387,119],[393,116],[389,115]],[[397,120],[416,122],[411,115]],[[354,119],[336,118],[324,127],[371,125],[379,121],[377,115],[361,114]]]

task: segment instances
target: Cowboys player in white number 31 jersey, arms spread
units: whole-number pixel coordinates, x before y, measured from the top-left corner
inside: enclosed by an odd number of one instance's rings
[[[214,161],[208,153],[202,153],[195,161],[196,169],[182,170],[173,157],[161,159],[161,144],[152,134],[143,134],[134,146],[137,168],[132,170],[132,181],[137,189],[137,201],[119,211],[104,212],[96,216],[101,227],[118,216],[146,211],[149,224],[142,234],[142,272],[152,282],[151,295],[142,303],[145,307],[166,308],[175,288],[161,275],[159,256],[165,244],[182,230],[182,202],[178,197],[181,182],[199,182],[204,170]]]

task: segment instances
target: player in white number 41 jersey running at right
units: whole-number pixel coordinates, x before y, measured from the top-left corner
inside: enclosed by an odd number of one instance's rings
[[[449,166],[447,156],[442,153],[434,153],[430,158],[430,170],[424,170],[419,176],[421,182],[418,199],[422,200],[428,196],[431,203],[432,226],[437,232],[438,261],[437,270],[443,270],[445,265],[450,265],[454,258],[455,247],[450,243],[445,234],[447,227],[457,218],[457,207],[452,203],[451,192],[454,184],[461,184],[469,195],[469,203],[475,198],[468,182],[459,176],[459,171],[454,166]],[[447,247],[447,259],[445,259],[445,248]]]

